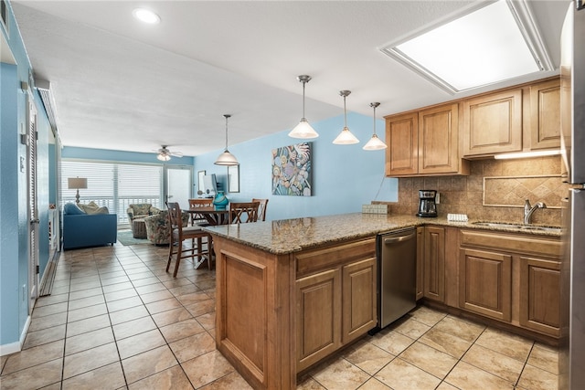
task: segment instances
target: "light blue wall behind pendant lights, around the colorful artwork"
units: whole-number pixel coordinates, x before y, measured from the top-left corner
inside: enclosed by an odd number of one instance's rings
[[[349,112],[347,127],[360,140],[355,145],[335,145],[333,140],[344,127],[344,117],[312,123],[319,137],[313,143],[312,196],[271,194],[272,149],[303,142],[288,136],[290,130],[277,132],[249,142],[229,145],[229,152],[239,161],[239,193],[228,193],[233,201],[252,197],[268,198],[267,220],[301,216],[324,216],[360,212],[372,200],[396,202],[398,180],[385,178],[385,151],[364,151],[372,135],[372,118]],[[384,140],[384,121],[377,121],[377,132]],[[195,158],[195,171],[216,174],[227,190],[228,168],[215,165],[218,150]],[[196,182],[197,183],[197,182]],[[379,193],[378,193],[379,191]]]

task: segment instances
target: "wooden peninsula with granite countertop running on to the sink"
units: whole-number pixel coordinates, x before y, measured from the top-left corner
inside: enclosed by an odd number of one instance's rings
[[[557,251],[558,232],[441,217],[355,213],[206,227],[216,252],[218,350],[254,388],[295,388],[298,373],[376,327],[376,236],[426,225],[452,237],[460,228],[504,230]]]

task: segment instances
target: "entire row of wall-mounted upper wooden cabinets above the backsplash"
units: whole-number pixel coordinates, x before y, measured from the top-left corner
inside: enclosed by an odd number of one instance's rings
[[[469,174],[469,160],[560,145],[560,79],[389,115],[386,175]]]

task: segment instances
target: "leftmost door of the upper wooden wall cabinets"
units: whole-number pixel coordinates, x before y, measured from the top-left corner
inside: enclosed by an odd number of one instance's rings
[[[419,121],[417,112],[386,119],[386,175],[419,172]]]

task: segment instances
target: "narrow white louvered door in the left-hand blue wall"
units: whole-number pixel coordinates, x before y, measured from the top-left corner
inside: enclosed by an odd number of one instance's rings
[[[27,176],[28,176],[28,313],[32,313],[38,296],[38,207],[37,207],[37,111],[28,104]]]

